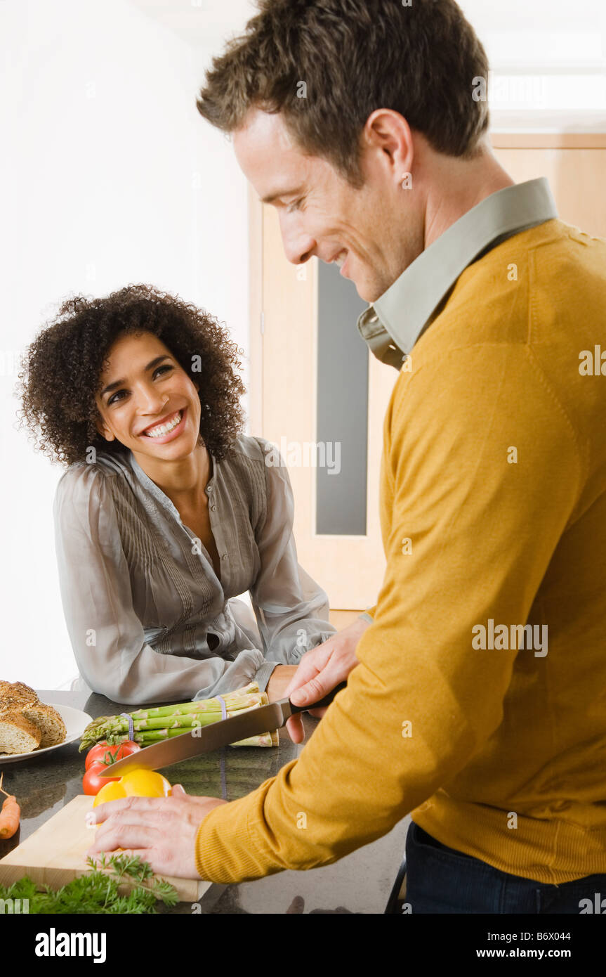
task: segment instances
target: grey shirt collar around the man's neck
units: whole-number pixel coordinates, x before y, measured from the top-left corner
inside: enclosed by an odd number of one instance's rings
[[[399,370],[468,265],[507,237],[557,216],[545,177],[485,197],[425,248],[359,317],[358,330],[371,352]]]

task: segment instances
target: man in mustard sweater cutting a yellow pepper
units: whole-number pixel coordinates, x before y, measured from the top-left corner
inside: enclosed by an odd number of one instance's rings
[[[412,813],[413,913],[578,913],[606,891],[606,380],[580,370],[606,242],[499,165],[487,75],[453,0],[264,0],[208,73],[198,108],[287,257],[342,264],[399,371],[387,566],[356,634],[272,676],[299,702],[347,678],[298,760],[228,804],[103,806],[94,850],[236,882],[327,865]]]

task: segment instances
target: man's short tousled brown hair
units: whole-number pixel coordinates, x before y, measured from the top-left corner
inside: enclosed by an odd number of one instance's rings
[[[488,79],[484,48],[455,0],[411,2],[259,0],[244,34],[213,60],[198,111],[228,133],[252,107],[281,112],[299,149],[356,187],[360,136],[376,108],[400,112],[439,152],[473,155],[488,128],[487,103],[472,98]]]

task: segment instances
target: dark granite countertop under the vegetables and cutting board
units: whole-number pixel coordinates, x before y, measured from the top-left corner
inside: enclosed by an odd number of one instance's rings
[[[41,701],[71,705],[93,718],[132,712],[136,708],[96,693],[36,691]],[[319,721],[304,714],[305,742]],[[187,793],[222,797],[223,788],[226,800],[236,800],[274,777],[280,767],[299,756],[304,748],[304,743],[292,743],[286,730],[280,730],[279,737],[277,747],[226,746],[161,772],[171,783],[182,784]],[[10,841],[0,842],[0,857],[83,792],[85,754],[78,752],[78,745],[78,742],[67,743],[39,757],[0,763],[5,786],[17,796],[21,808],[20,831]],[[384,913],[404,857],[409,823],[410,819],[405,818],[383,838],[334,865],[311,871],[283,871],[238,885],[213,884],[195,909],[189,903],[179,903],[172,910],[160,904],[158,910],[160,913]]]

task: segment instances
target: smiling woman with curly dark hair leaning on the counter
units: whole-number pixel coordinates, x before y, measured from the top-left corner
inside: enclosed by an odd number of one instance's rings
[[[240,433],[240,352],[148,285],[66,300],[28,348],[24,420],[69,466],[54,506],[67,629],[114,701],[286,688],[335,633],[297,561],[287,469]],[[256,621],[234,600],[247,590]]]

